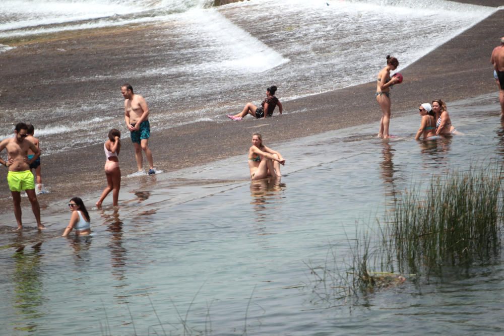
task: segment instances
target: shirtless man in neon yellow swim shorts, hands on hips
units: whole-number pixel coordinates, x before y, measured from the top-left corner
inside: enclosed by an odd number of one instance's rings
[[[38,229],[45,229],[45,226],[40,222],[40,206],[35,193],[33,174],[30,171],[30,164],[40,156],[40,150],[33,143],[25,140],[27,136],[28,126],[24,122],[19,122],[14,129],[14,138],[8,138],[0,142],[0,153],[7,149],[8,159],[5,161],[0,158],[0,164],[9,168],[7,182],[14,202],[14,216],[16,216],[18,222],[18,228],[14,231],[23,228],[21,222],[21,190],[25,190],[28,195]],[[30,160],[28,160],[29,149],[34,153]]]

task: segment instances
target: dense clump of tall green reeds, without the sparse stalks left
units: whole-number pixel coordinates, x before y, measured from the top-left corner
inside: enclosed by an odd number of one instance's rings
[[[500,250],[501,169],[434,177],[396,202],[386,226],[398,267],[439,274],[443,266],[486,263]]]

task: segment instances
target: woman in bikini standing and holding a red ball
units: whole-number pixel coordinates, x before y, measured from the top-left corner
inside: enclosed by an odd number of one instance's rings
[[[376,84],[376,102],[382,109],[382,119],[380,120],[380,130],[378,137],[387,139],[390,137],[389,124],[390,124],[390,88],[401,82],[399,77],[390,77],[390,71],[396,70],[399,66],[399,61],[396,57],[387,55],[387,66],[378,73],[378,83]]]

